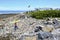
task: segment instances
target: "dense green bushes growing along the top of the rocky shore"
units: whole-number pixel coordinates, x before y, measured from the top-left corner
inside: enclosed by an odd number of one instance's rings
[[[34,11],[29,11],[26,12],[29,16],[36,18],[36,19],[43,19],[47,17],[60,17],[60,10],[58,9],[49,9],[49,10],[34,10]]]

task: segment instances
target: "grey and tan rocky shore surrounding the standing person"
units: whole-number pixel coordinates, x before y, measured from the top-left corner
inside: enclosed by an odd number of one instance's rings
[[[14,30],[14,23],[17,30]],[[1,40],[59,40],[60,19],[35,19],[17,14],[0,21]]]

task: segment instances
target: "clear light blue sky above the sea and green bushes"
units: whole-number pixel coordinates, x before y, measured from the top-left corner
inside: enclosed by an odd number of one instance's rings
[[[0,0],[0,10],[34,10],[35,8],[60,8],[60,0]]]

